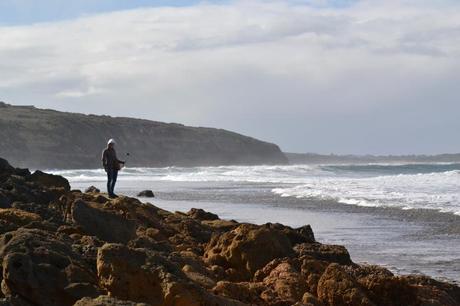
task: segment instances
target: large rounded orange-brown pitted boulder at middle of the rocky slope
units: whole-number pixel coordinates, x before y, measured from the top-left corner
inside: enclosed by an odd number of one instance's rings
[[[261,252],[263,250],[263,252]],[[231,280],[249,280],[268,262],[293,255],[292,245],[282,231],[270,226],[242,224],[236,229],[214,236],[206,246],[204,258],[220,265]]]

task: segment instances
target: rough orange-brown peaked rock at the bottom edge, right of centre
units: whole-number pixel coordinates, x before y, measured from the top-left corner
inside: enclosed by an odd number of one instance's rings
[[[318,298],[330,306],[375,306],[365,290],[338,264],[327,267],[318,282]]]

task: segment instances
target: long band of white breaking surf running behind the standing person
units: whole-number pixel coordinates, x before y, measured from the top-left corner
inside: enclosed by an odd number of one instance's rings
[[[249,182],[279,184],[282,197],[343,204],[436,209],[460,215],[460,165],[372,164],[126,168],[123,181]],[[53,171],[70,182],[102,182],[103,170]]]

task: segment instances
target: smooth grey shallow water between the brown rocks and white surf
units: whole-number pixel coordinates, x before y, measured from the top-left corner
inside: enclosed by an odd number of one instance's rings
[[[212,185],[136,181],[120,182],[119,190],[135,196],[136,188],[154,187],[154,203],[170,211],[186,212],[199,207],[239,222],[279,222],[291,227],[310,224],[319,241],[345,245],[357,262],[383,265],[397,274],[416,273],[460,281],[460,256],[452,247],[460,244],[455,215],[280,198],[270,192],[270,184],[265,184],[263,191],[243,185],[247,188],[244,191],[241,186],[223,182]],[[251,186],[255,185],[260,184]],[[449,223],[451,229],[446,226]],[[374,249],[379,252],[370,252]]]

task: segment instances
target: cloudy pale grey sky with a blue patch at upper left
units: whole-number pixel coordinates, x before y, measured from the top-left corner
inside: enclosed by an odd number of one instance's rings
[[[460,152],[457,0],[0,0],[0,101],[287,152]]]

